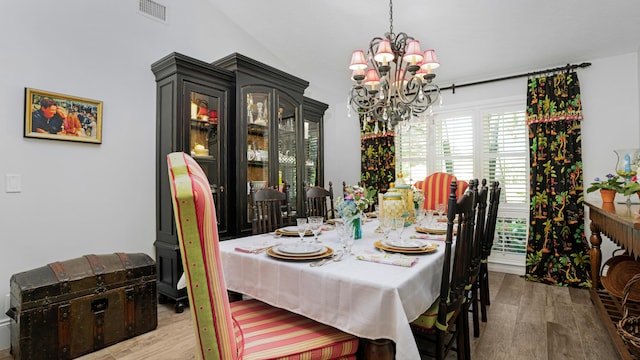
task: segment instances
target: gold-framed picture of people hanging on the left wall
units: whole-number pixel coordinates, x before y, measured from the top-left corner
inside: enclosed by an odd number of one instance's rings
[[[25,88],[24,136],[102,143],[102,101]]]

